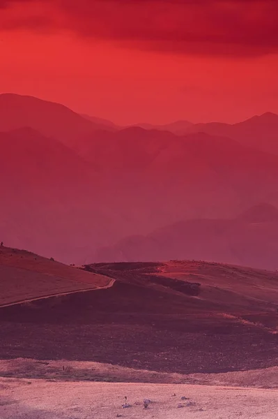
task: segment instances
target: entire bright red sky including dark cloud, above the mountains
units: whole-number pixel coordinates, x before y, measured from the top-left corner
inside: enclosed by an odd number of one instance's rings
[[[0,92],[118,124],[278,113],[277,0],[0,0]]]

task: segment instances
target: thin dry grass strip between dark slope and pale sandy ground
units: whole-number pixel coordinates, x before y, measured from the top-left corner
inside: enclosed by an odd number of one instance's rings
[[[90,361],[0,360],[0,376],[47,381],[222,385],[278,389],[278,366],[217,374],[178,374]]]

